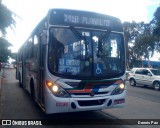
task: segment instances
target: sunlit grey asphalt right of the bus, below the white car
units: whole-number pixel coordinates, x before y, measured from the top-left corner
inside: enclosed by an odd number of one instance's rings
[[[127,84],[124,109],[104,110],[121,119],[160,119],[160,91]]]

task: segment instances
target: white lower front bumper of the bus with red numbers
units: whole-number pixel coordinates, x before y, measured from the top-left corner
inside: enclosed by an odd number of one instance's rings
[[[119,95],[90,98],[59,98],[45,93],[46,114],[123,108],[126,90]]]

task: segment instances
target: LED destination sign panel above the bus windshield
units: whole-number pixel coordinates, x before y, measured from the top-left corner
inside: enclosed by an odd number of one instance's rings
[[[123,31],[118,18],[86,11],[55,9],[50,12],[51,25],[67,25]]]

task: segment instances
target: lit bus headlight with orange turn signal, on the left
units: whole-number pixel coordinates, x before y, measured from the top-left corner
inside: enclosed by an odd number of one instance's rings
[[[63,98],[70,97],[70,95],[57,84],[51,81],[46,81],[46,85],[51,90],[52,94],[55,95],[56,97],[63,97]]]

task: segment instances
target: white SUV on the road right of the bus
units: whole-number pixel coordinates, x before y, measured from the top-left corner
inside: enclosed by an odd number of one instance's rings
[[[128,80],[131,86],[141,84],[160,90],[160,70],[153,68],[134,68],[129,73]]]

